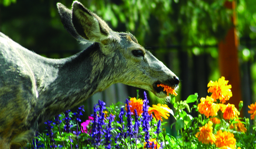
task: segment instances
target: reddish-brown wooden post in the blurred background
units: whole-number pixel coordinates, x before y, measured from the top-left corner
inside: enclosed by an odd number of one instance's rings
[[[238,63],[237,47],[239,39],[237,37],[235,1],[226,1],[225,7],[233,10],[232,23],[233,26],[228,30],[224,40],[220,41],[219,47],[219,65],[220,74],[229,80],[228,84],[232,85],[231,91],[233,96],[227,102],[234,104],[237,109],[241,100],[240,72]],[[240,116],[243,116],[243,110],[240,111]]]

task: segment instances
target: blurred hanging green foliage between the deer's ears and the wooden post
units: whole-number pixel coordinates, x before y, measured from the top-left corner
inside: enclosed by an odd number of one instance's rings
[[[123,0],[111,3],[105,0],[81,1],[109,21],[118,23],[144,43],[144,38],[158,37],[161,44],[215,44],[230,27],[230,11],[225,0]],[[120,24],[119,24],[120,25]],[[151,41],[152,42],[152,41]]]

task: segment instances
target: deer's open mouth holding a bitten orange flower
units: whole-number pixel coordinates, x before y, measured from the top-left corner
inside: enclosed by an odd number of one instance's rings
[[[175,87],[174,86],[170,87],[168,85],[163,84],[160,81],[156,81],[153,84],[153,89],[156,91],[156,94],[158,94],[158,95],[161,94],[160,92],[165,93],[166,96],[168,96],[169,93],[171,93],[173,95],[177,95],[177,93],[175,92]]]

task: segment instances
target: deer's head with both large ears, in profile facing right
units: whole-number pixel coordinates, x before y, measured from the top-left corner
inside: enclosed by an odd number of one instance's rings
[[[131,33],[112,31],[105,21],[78,1],[73,2],[72,10],[60,3],[57,7],[64,27],[74,38],[80,42],[99,43],[100,50],[107,57],[105,61],[114,59],[114,65],[109,65],[108,69],[114,76],[111,84],[120,82],[144,88],[160,98],[166,97],[167,94],[163,88],[157,87],[157,84],[165,84],[172,88],[178,86],[178,77],[142,47]],[[105,69],[98,68],[99,63],[103,62],[100,62],[96,55],[92,60],[92,75]],[[106,79],[104,81],[108,82]]]

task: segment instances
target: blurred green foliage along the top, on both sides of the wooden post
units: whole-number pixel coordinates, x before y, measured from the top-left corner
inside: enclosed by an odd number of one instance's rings
[[[154,45],[179,44],[215,45],[230,28],[230,9],[226,0],[81,0],[117,31],[128,30],[138,37],[140,43]],[[61,1],[71,7],[72,1]],[[0,0],[9,6],[16,0]],[[54,1],[44,1],[52,17],[52,27],[59,28],[57,8]],[[28,3],[29,5],[29,3]],[[43,5],[41,7],[44,7]],[[254,0],[238,0],[238,30],[241,36],[256,38],[256,4]],[[31,7],[29,7],[30,9]],[[46,8],[46,7],[45,7]],[[46,9],[46,10],[47,10]],[[57,26],[56,26],[57,25]],[[121,28],[121,27],[125,27]],[[145,38],[147,37],[147,38]],[[156,40],[157,39],[157,40]],[[200,49],[197,49],[197,51]]]

